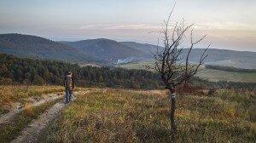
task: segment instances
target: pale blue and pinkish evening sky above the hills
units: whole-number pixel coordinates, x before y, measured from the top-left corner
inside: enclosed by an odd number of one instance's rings
[[[256,0],[0,0],[0,33],[156,44],[174,4],[170,28],[194,24],[198,48],[256,52]]]

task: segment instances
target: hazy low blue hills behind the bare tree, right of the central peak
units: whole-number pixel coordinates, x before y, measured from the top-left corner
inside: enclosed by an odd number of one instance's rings
[[[133,49],[141,50],[143,53],[147,54],[149,58],[152,59],[152,53],[156,52],[157,46],[148,43],[134,43],[134,42],[121,42]],[[159,47],[162,49],[162,47]],[[191,62],[198,62],[200,55],[203,53],[204,49],[193,49],[189,60]],[[183,49],[182,56],[188,53],[188,49]],[[238,68],[245,69],[256,69],[256,52],[249,51],[236,51],[229,49],[208,49],[208,57],[205,63],[208,65],[218,65],[218,66],[234,66]]]

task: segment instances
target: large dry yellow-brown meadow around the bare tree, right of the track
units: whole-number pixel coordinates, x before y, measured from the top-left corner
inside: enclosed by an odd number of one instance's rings
[[[170,133],[166,90],[91,89],[44,132],[42,142],[254,142],[256,95],[217,90],[177,95],[177,134]]]

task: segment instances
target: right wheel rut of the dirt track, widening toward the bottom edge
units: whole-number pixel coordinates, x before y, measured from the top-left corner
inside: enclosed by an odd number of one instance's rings
[[[83,93],[89,93],[90,91],[74,93],[73,100],[76,100],[76,96]],[[40,134],[44,131],[44,129],[49,125],[49,123],[58,115],[61,110],[63,110],[69,104],[64,104],[64,101],[57,102],[54,106],[52,106],[49,110],[41,114],[38,119],[32,121],[21,131],[20,136],[18,136],[15,140],[12,140],[12,143],[27,143],[27,142],[38,142]]]

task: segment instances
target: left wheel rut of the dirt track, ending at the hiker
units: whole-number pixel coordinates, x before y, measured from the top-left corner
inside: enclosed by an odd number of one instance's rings
[[[29,98],[29,99],[26,99],[26,100],[28,100],[29,102],[32,103],[31,106],[41,106],[45,102],[61,99],[61,97],[63,97],[63,94],[61,94],[61,95],[58,95],[58,94],[44,94],[38,100],[35,100],[35,98]],[[14,117],[15,114],[17,114],[19,112],[22,112],[25,109],[26,109],[25,106],[15,106],[15,107],[13,107],[13,109],[10,110],[8,113],[3,114],[3,115],[0,116],[0,124],[9,122],[9,119],[11,117]]]

